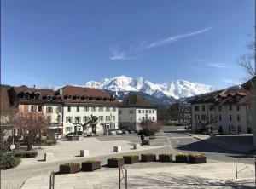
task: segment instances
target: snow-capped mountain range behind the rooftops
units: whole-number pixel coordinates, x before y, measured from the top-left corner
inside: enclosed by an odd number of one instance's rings
[[[96,89],[107,89],[111,91],[132,91],[152,95],[158,99],[173,97],[175,99],[186,98],[198,94],[210,93],[216,88],[212,86],[191,83],[185,80],[177,80],[169,83],[152,83],[143,77],[131,78],[125,76],[104,78],[101,82],[90,81],[86,87]]]

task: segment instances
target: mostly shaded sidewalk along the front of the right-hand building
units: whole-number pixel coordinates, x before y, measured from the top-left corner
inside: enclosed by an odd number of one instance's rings
[[[202,135],[202,134],[192,134],[185,133],[186,135],[192,136],[198,140],[205,140],[211,143],[214,146],[218,146],[221,149],[239,152],[239,153],[249,153],[253,152],[253,146],[242,145],[236,141],[225,140],[223,136],[210,136],[210,135]]]

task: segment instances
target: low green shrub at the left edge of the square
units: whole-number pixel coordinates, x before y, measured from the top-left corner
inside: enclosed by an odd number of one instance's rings
[[[13,154],[1,153],[0,163],[1,169],[10,169],[20,164],[20,158],[15,157]]]

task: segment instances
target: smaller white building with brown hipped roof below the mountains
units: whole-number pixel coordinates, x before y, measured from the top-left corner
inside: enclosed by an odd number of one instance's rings
[[[129,95],[119,110],[120,128],[140,129],[143,120],[157,121],[157,108],[139,95]]]

